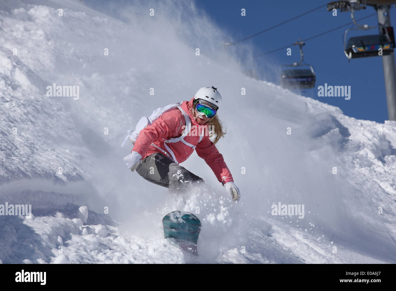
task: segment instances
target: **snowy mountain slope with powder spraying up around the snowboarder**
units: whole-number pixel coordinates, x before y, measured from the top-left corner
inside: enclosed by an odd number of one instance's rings
[[[248,78],[191,3],[133,5],[119,21],[79,1],[0,4],[0,204],[33,213],[0,216],[3,263],[396,262],[396,122],[349,118]],[[79,99],[46,96],[53,83],[79,86]],[[212,85],[239,204],[196,154],[183,166],[209,190],[184,202],[122,161],[141,116]],[[278,202],[304,204],[305,217],[271,215]],[[161,219],[196,207],[203,228],[191,257],[163,238]]]

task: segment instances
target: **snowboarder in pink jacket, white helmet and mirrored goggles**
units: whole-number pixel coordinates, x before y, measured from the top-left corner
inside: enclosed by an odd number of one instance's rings
[[[217,116],[221,95],[215,87],[202,87],[190,101],[164,112],[152,124],[139,131],[131,153],[124,162],[147,181],[180,193],[193,183],[205,183],[179,163],[196,150],[225,186],[232,200],[239,201],[240,191],[215,143],[224,137]],[[214,142],[210,140],[215,135]]]

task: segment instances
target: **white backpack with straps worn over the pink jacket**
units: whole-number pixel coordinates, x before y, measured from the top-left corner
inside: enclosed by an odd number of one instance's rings
[[[185,137],[186,135],[188,135],[188,133],[189,133],[190,130],[191,130],[191,119],[190,119],[190,116],[188,116],[188,114],[183,110],[183,108],[181,108],[181,104],[182,104],[182,103],[183,103],[183,101],[181,101],[181,102],[179,102],[179,103],[172,103],[172,104],[166,105],[166,106],[163,107],[163,108],[158,107],[156,110],[154,110],[154,111],[152,112],[152,114],[150,115],[150,117],[143,116],[143,117],[139,120],[139,122],[136,124],[136,127],[135,127],[135,130],[134,130],[134,131],[132,131],[132,130],[128,130],[128,131],[127,131],[128,135],[125,137],[125,139],[124,139],[124,141],[123,141],[121,147],[123,147],[123,146],[125,145],[125,143],[126,143],[126,141],[128,140],[128,138],[129,138],[129,140],[131,141],[132,146],[135,145],[136,139],[139,137],[139,133],[140,133],[140,131],[141,131],[142,129],[144,129],[146,126],[152,124],[156,119],[158,119],[158,118],[159,118],[162,114],[164,114],[165,112],[168,112],[169,110],[172,110],[172,109],[175,109],[175,108],[179,108],[179,110],[180,110],[181,113],[183,114],[184,119],[185,119],[185,121],[186,121],[186,129],[185,129],[185,131],[183,132],[183,135],[181,135],[180,137],[175,137],[175,138],[168,139],[168,140],[164,141],[164,146],[165,146],[165,148],[168,150],[168,152],[169,152],[169,154],[171,155],[171,157],[173,158],[173,161],[174,161],[176,164],[179,164],[179,162],[177,162],[177,160],[176,160],[175,154],[174,154],[173,151],[169,148],[169,146],[167,145],[167,143],[177,143],[177,142],[181,141],[181,142],[184,143],[185,145],[188,145],[188,146],[192,147],[193,149],[195,149],[195,146],[194,146],[194,145],[192,145],[192,144],[190,144],[190,143],[188,143],[187,141],[184,140],[184,137]],[[203,138],[203,137],[204,137],[204,134],[201,133],[199,142],[202,141],[202,138]],[[198,142],[198,143],[199,143],[199,142]],[[169,157],[169,154],[168,154],[166,151],[164,151],[162,148],[160,148],[159,146],[156,146],[154,143],[152,143],[151,145],[154,146],[154,147],[156,147],[156,148],[158,148],[159,150],[161,150],[161,152],[163,152],[164,154],[166,154],[166,156]]]

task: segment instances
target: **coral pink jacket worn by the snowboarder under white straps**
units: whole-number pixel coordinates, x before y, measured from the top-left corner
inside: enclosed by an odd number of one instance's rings
[[[194,116],[190,113],[193,100],[194,98],[192,98],[190,102],[184,101],[181,105],[181,108],[183,108],[191,119],[191,134],[188,134],[184,140],[196,146],[195,150],[198,156],[205,160],[206,164],[208,164],[213,173],[215,173],[219,182],[223,183],[223,185],[227,182],[233,182],[234,179],[232,179],[231,172],[224,162],[223,155],[219,153],[216,146],[210,141],[208,134],[204,135],[202,141],[199,142],[202,130],[205,130],[205,133],[208,132],[208,125],[198,124],[194,119]],[[160,152],[158,148],[151,145],[151,143],[154,143],[166,152],[164,140],[173,137],[180,137],[185,128],[185,123],[185,118],[178,108],[165,112],[151,125],[140,131],[139,137],[137,138],[132,150],[138,152],[143,158],[145,158],[150,156],[150,154]],[[181,141],[177,143],[168,143],[168,146],[175,154],[179,163],[187,160],[192,152],[194,152],[192,147],[185,145]],[[170,155],[169,158],[171,158]]]

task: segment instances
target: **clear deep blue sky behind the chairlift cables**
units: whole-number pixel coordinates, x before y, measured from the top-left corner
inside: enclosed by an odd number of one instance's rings
[[[195,3],[230,35],[230,40],[240,40],[328,2],[321,0],[199,0]],[[86,0],[86,3],[95,8],[95,3],[99,2]],[[103,4],[102,1],[100,3]],[[246,9],[246,16],[241,16],[242,8]],[[375,10],[369,6],[366,10],[357,11],[355,17],[359,19],[372,13],[375,13]],[[392,5],[390,10],[390,18],[392,25],[396,26],[395,5]],[[298,38],[305,40],[348,22],[352,25],[350,12],[338,12],[337,16],[332,16],[332,13],[323,7],[235,46],[236,48],[251,46],[254,54],[257,55],[292,44]],[[358,23],[376,26],[377,16],[369,17]],[[304,59],[316,71],[316,87],[307,89],[301,94],[337,106],[348,116],[383,123],[388,119],[388,111],[382,60],[380,57],[369,57],[354,59],[348,63],[343,52],[342,39],[345,30],[349,27],[335,30],[306,42],[303,49]],[[377,29],[372,29],[351,33],[351,36],[377,33]],[[287,56],[286,49],[283,49],[255,58],[259,78],[279,84],[279,65],[300,60],[298,46],[291,48],[291,56]],[[324,86],[325,83],[332,86],[351,86],[350,100],[345,100],[343,97],[318,97],[317,88]]]

